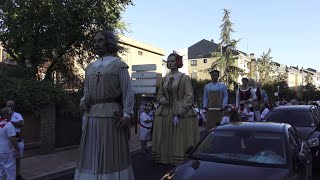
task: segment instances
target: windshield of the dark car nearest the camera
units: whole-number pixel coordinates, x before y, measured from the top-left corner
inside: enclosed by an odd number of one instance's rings
[[[283,135],[215,130],[191,156],[208,161],[282,167],[286,165]]]

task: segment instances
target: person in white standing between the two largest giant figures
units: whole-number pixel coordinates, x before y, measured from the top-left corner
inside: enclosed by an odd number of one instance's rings
[[[143,153],[147,153],[147,141],[150,140],[150,131],[152,127],[153,119],[149,116],[151,108],[149,106],[144,107],[144,111],[140,114],[140,140],[141,150]]]

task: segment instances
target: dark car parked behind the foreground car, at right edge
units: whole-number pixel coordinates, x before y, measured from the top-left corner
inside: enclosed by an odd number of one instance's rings
[[[265,121],[288,123],[308,142],[314,160],[319,161],[320,115],[313,105],[280,106],[271,110]]]

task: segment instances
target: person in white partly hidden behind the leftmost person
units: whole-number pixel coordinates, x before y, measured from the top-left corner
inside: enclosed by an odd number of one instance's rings
[[[24,119],[20,113],[15,112],[15,102],[13,100],[8,100],[6,103],[7,108],[11,108],[13,111],[13,114],[11,115],[10,122],[14,125],[15,131],[16,131],[16,138],[18,142],[18,147],[19,147],[19,158],[17,158],[17,179],[23,179],[20,175],[20,158],[23,157],[23,151],[24,151],[24,140],[21,135],[21,129],[24,126]]]

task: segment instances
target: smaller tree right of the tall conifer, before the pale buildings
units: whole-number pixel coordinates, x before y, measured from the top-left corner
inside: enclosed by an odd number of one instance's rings
[[[261,57],[257,59],[259,80],[265,84],[272,81],[272,74],[274,73],[272,57],[270,56],[271,49],[267,53],[262,53]]]

